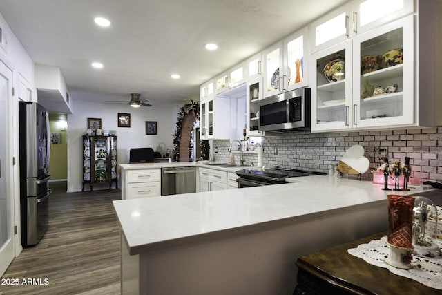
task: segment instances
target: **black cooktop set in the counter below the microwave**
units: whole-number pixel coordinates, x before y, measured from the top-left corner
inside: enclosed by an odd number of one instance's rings
[[[325,173],[298,169],[273,169],[270,171],[241,169],[236,171],[236,175],[240,176],[241,178],[255,179],[262,182],[265,182],[266,180],[271,180],[272,182],[285,182],[285,178],[287,177],[300,177],[323,174]]]

